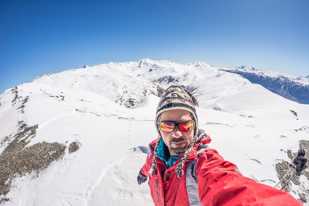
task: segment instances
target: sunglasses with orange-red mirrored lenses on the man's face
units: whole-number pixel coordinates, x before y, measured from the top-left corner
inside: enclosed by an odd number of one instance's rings
[[[194,128],[194,120],[182,120],[178,122],[171,122],[171,121],[162,121],[159,122],[159,128],[163,132],[173,132],[175,130],[175,127],[178,127],[180,131],[182,132],[188,132],[190,130],[193,130]]]

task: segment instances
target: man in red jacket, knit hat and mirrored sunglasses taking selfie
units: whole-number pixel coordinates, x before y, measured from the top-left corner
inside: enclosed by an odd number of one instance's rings
[[[198,103],[187,90],[169,87],[156,110],[158,138],[149,144],[146,164],[137,177],[149,177],[156,206],[301,206],[288,193],[244,177],[207,143],[198,130]]]

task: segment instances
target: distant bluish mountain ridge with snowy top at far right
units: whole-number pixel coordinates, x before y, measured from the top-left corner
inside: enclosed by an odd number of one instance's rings
[[[232,67],[222,70],[240,74],[251,83],[260,84],[286,99],[309,104],[309,75],[292,76],[280,71],[263,71],[253,67]]]

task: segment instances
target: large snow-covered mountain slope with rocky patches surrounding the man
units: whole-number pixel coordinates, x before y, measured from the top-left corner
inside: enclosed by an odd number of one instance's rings
[[[159,96],[183,85],[200,129],[243,175],[275,186],[301,147],[309,105],[203,62],[142,59],[38,76],[0,95],[0,203],[151,206],[136,176],[156,138]],[[289,176],[287,176],[289,178]],[[286,191],[308,205],[309,170]]]

